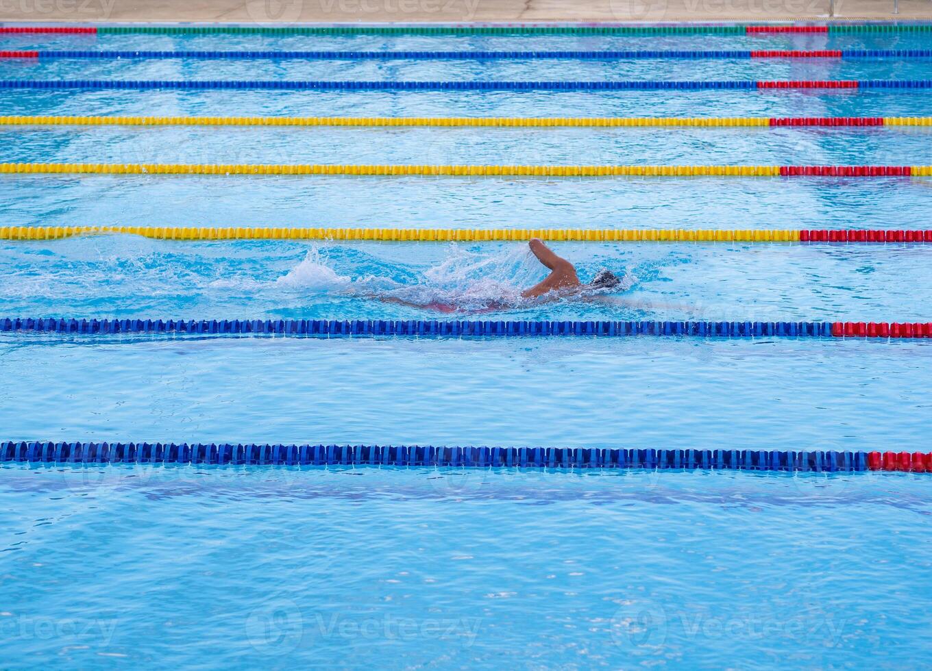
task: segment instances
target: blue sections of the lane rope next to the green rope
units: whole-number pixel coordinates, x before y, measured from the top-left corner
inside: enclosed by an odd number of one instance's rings
[[[608,50],[608,51],[30,51],[34,58],[54,59],[199,59],[199,60],[635,60],[750,59],[760,50]],[[842,59],[932,58],[932,49],[841,49]],[[777,57],[772,57],[777,58]],[[793,58],[793,57],[787,57]],[[798,58],[798,57],[797,57]],[[827,57],[830,58],[830,57]]]

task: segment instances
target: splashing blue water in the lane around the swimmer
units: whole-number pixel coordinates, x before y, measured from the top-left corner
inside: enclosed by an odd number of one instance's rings
[[[13,316],[444,316],[388,297],[458,305],[461,318],[482,311],[478,318],[925,321],[932,293],[932,247],[907,244],[555,244],[583,281],[608,267],[623,277],[623,290],[491,312],[490,302],[519,301],[546,275],[526,244],[173,243],[114,235],[0,248],[0,300]]]

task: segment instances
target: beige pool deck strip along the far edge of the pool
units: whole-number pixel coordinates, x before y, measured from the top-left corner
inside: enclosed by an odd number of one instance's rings
[[[932,0],[835,0],[836,20],[932,20]],[[829,0],[17,0],[0,21],[827,20]]]

